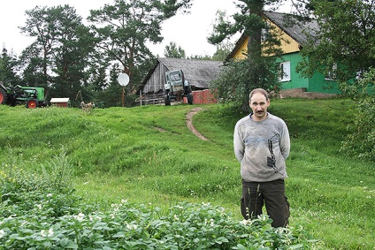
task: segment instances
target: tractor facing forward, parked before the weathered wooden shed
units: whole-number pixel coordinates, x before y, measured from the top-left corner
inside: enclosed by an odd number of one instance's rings
[[[165,72],[165,82],[165,106],[170,106],[171,100],[180,102],[183,97],[187,97],[188,103],[193,104],[193,93],[182,70]]]

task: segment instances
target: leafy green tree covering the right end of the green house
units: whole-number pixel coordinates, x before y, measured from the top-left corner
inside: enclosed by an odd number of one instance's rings
[[[303,45],[297,71],[315,72],[345,82],[360,77],[374,65],[375,3],[373,1],[311,0],[318,30]]]

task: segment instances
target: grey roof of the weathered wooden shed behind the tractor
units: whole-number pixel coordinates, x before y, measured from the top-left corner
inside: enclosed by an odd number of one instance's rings
[[[220,66],[223,65],[223,62],[159,57],[157,58],[157,64],[163,64],[167,71],[182,70],[185,80],[188,80],[191,86],[207,88],[211,80],[218,78]],[[149,80],[157,68],[157,64],[149,71],[149,74],[143,80],[143,84]]]

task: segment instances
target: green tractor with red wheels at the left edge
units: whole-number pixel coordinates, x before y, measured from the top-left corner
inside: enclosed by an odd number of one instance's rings
[[[44,98],[43,87],[4,87],[0,83],[0,104],[16,106],[25,104],[27,108],[34,109],[37,107],[47,106]]]

